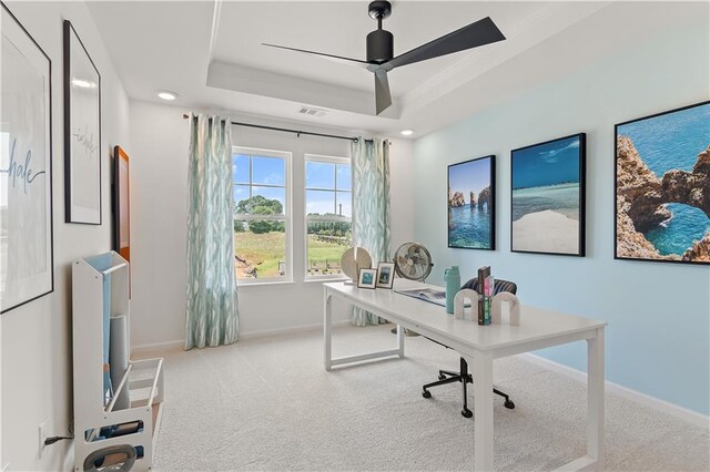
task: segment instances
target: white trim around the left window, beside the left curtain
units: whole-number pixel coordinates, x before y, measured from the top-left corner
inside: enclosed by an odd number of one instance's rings
[[[232,155],[234,154],[247,154],[251,156],[264,156],[264,157],[282,157],[285,164],[285,192],[284,192],[284,215],[242,215],[240,219],[243,220],[284,220],[284,225],[286,227],[285,234],[285,256],[286,256],[286,275],[284,277],[270,277],[270,278],[237,278],[236,284],[239,286],[246,285],[268,285],[268,284],[287,284],[293,283],[293,206],[292,206],[292,193],[293,188],[291,186],[292,175],[291,167],[293,161],[293,153],[287,151],[275,151],[275,150],[263,150],[258,147],[243,147],[243,146],[232,146]],[[250,170],[250,181],[251,181],[251,170]],[[234,182],[232,183],[234,185]],[[250,186],[254,184],[250,182]],[[258,186],[258,185],[256,185]],[[232,192],[234,195],[234,192]],[[235,202],[236,203],[236,202]],[[232,214],[232,219],[236,214]]]

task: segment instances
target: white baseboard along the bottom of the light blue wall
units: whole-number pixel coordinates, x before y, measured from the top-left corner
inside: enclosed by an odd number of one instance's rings
[[[555,372],[561,373],[562,376],[569,377],[570,379],[577,380],[582,383],[587,383],[587,372],[582,372],[581,370],[562,366],[559,362],[545,359],[540,356],[537,356],[530,352],[519,355],[518,357],[528,362],[531,362],[531,363],[541,366],[546,369],[552,370]],[[698,413],[697,411],[692,411],[687,408],[670,403],[666,400],[660,400],[656,397],[651,397],[646,393],[631,390],[627,387],[622,387],[618,383],[610,382],[608,380],[605,380],[605,388],[607,392],[615,393],[615,394],[618,394],[619,397],[623,397],[626,399],[636,401],[646,407],[650,407],[655,410],[670,414],[671,417],[692,423],[697,427],[710,429],[710,417],[707,417],[702,413]]]

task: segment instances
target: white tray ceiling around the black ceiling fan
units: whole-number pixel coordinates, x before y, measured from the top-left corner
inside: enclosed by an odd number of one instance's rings
[[[688,22],[708,2],[393,1],[395,55],[490,17],[506,41],[396,69],[394,105],[374,114],[373,74],[263,42],[365,59],[368,1],[90,2],[132,99],[155,90],[191,107],[414,137]],[[325,116],[298,114],[301,105]]]

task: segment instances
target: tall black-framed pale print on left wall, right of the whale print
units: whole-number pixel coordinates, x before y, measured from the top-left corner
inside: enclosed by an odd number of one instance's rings
[[[101,224],[101,75],[64,20],[64,220]]]

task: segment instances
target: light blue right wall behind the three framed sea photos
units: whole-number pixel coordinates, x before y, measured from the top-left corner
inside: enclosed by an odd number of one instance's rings
[[[613,259],[613,125],[708,100],[709,33],[706,14],[619,44],[569,76],[415,142],[415,179],[430,183],[415,194],[417,215],[427,215],[416,218],[415,235],[433,252],[433,281],[454,264],[463,277],[490,265],[518,284],[525,304],[606,320],[608,380],[702,414],[710,413],[710,269]],[[579,132],[587,133],[587,257],[510,253],[510,150]],[[497,155],[498,249],[449,249],[447,164],[488,154]],[[586,370],[584,343],[542,355]]]

